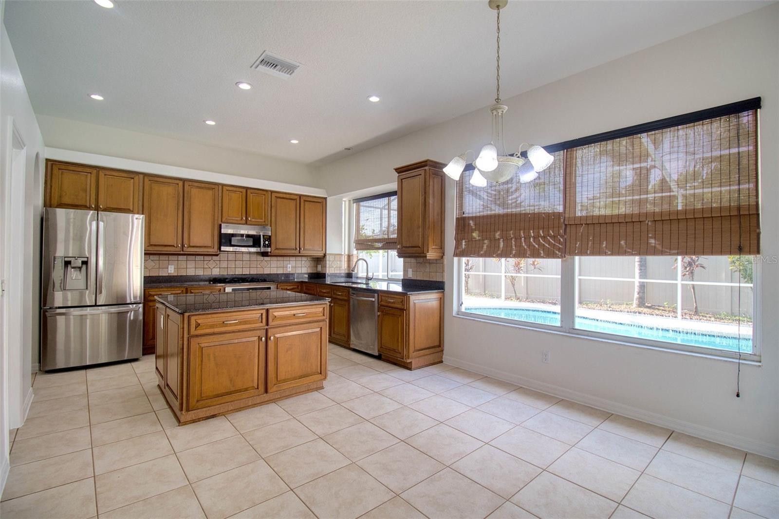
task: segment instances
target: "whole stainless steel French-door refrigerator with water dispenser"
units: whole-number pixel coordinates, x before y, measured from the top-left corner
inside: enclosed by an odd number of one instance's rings
[[[143,351],[143,214],[44,209],[41,369]]]

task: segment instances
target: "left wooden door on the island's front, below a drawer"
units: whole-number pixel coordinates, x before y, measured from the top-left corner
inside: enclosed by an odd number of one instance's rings
[[[189,409],[265,394],[265,330],[189,339]]]

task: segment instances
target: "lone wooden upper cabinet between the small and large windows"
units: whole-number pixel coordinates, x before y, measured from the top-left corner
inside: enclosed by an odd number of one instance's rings
[[[425,160],[397,172],[397,256],[441,259],[444,244],[444,164]]]

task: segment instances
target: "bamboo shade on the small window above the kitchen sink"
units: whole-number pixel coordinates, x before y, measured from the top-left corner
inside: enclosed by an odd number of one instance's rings
[[[354,249],[397,249],[397,192],[354,200]]]

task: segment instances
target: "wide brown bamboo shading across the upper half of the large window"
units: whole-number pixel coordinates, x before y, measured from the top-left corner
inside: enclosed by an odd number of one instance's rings
[[[457,182],[459,257],[754,255],[760,98],[545,147],[536,180]],[[469,171],[470,170],[470,171]]]

